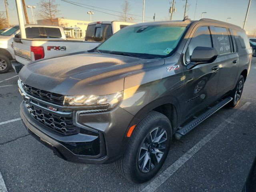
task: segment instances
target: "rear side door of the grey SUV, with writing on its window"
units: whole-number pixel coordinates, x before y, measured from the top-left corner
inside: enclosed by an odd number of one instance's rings
[[[239,67],[239,57],[233,43],[230,30],[226,27],[210,26],[214,47],[218,52],[217,61],[220,67],[220,78],[217,87],[217,97],[233,90],[236,85],[236,76]]]

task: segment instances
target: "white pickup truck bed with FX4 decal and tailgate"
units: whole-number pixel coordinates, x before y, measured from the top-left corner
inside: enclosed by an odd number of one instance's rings
[[[38,55],[31,51],[34,48],[41,47],[42,57],[48,58],[62,54],[87,51],[98,46],[100,42],[76,41],[76,40],[39,40],[39,39],[14,39],[15,58],[21,64],[27,64],[37,60]]]

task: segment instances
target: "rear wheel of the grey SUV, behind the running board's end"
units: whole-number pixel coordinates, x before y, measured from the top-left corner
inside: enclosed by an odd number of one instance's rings
[[[243,89],[244,89],[244,76],[240,75],[240,77],[238,78],[238,82],[236,83],[236,87],[234,88],[234,90],[232,90],[230,94],[233,100],[228,103],[229,107],[234,108],[238,105],[243,93]]]

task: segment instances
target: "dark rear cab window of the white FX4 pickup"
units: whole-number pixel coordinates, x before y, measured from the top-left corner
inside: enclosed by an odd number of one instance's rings
[[[111,24],[88,25],[86,30],[86,41],[102,42],[112,35]]]

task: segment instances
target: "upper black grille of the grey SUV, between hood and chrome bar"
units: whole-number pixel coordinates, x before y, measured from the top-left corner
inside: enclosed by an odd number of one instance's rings
[[[24,84],[23,82],[21,82],[21,85],[26,93],[28,93],[36,98],[40,98],[42,100],[45,100],[45,101],[48,101],[51,103],[63,105],[64,96],[61,94],[40,90],[38,88],[34,88],[32,86]]]

